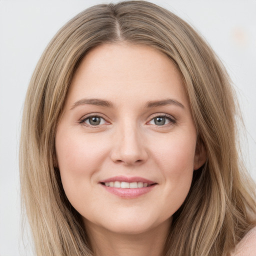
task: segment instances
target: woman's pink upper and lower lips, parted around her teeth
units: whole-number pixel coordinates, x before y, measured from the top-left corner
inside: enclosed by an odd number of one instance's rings
[[[111,182],[111,181],[124,181],[124,182],[143,182],[143,183],[148,183],[150,186],[147,187],[140,187],[140,188],[121,188],[121,187],[109,187],[105,186],[102,183],[105,182]],[[143,194],[146,194],[150,192],[155,186],[156,182],[142,178],[142,177],[125,177],[125,176],[115,176],[115,177],[110,177],[104,180],[100,180],[99,184],[106,189],[106,191],[115,194],[121,198],[137,198]]]

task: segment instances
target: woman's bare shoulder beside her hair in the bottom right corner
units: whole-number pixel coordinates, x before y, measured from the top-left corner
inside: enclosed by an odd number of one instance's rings
[[[256,255],[256,227],[245,234],[241,241],[235,246],[231,256],[255,256]]]

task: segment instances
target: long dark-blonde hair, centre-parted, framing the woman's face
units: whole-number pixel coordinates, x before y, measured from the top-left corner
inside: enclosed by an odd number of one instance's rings
[[[238,157],[236,103],[228,75],[205,41],[182,19],[153,3],[90,7],[50,41],[32,75],[20,140],[22,202],[38,256],[93,255],[80,215],[63,191],[54,137],[72,76],[104,42],[150,45],[182,74],[207,161],[166,238],[165,255],[225,255],[255,223],[255,187]]]

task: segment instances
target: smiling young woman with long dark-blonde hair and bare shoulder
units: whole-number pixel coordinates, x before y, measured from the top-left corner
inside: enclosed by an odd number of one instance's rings
[[[145,1],[81,12],[47,46],[25,102],[20,178],[37,255],[256,249],[228,76],[173,13]]]

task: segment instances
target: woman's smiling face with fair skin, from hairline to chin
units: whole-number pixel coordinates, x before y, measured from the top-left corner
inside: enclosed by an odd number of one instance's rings
[[[85,226],[120,233],[169,224],[204,162],[180,73],[143,45],[89,51],[55,147],[65,194]]]

